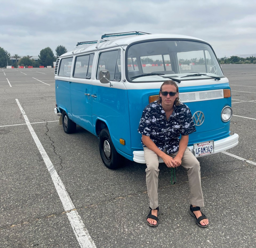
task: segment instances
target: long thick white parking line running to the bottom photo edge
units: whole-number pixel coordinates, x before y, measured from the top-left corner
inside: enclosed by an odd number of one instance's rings
[[[43,161],[45,162],[45,165],[51,175],[51,178],[53,180],[54,186],[57,190],[57,193],[59,195],[59,198],[61,199],[62,205],[65,209],[65,211],[70,211],[67,214],[67,217],[69,219],[69,222],[74,230],[75,236],[77,237],[78,243],[81,246],[81,248],[96,248],[92,238],[90,237],[88,231],[85,228],[85,225],[79,216],[78,212],[75,209],[75,206],[73,202],[71,201],[69,194],[67,193],[67,190],[64,186],[64,184],[61,181],[61,178],[59,177],[57,171],[55,170],[50,158],[48,157],[45,149],[43,148],[41,142],[39,141],[34,129],[32,128],[31,124],[29,123],[29,119],[26,116],[26,113],[24,112],[23,108],[21,107],[21,104],[19,103],[18,99],[15,99],[17,101],[17,104],[19,106],[19,109],[22,113],[22,116],[27,124],[27,127],[35,141],[35,144],[37,145],[37,148],[39,152],[41,153],[41,156],[43,158]]]

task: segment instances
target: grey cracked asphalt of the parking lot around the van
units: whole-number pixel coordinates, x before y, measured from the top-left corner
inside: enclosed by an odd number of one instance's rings
[[[210,221],[202,229],[188,213],[185,169],[177,169],[174,186],[160,164],[160,222],[150,228],[146,166],[125,160],[109,170],[96,136],[79,126],[64,133],[53,111],[53,68],[0,69],[0,247],[256,247],[256,65],[225,64],[222,70],[232,94],[230,130],[239,144],[198,159],[202,210]],[[74,209],[63,207],[25,115]],[[87,246],[71,225],[73,212],[85,226]]]

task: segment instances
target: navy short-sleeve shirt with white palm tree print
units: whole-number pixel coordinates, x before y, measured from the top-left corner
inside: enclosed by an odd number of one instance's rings
[[[166,148],[168,154],[178,151],[180,135],[189,135],[195,131],[193,117],[187,105],[174,105],[173,113],[166,120],[162,104],[157,101],[145,107],[138,128],[138,132],[149,136],[161,151]],[[143,142],[142,145],[145,147]]]

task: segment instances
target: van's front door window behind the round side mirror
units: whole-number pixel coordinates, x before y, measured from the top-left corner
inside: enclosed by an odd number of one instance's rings
[[[99,79],[99,71],[108,70],[110,73],[111,81],[121,80],[121,51],[108,51],[102,52],[99,55],[99,63],[97,70],[97,77]]]

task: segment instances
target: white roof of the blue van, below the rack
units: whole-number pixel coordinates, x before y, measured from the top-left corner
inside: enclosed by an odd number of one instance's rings
[[[102,35],[104,37],[104,35]],[[189,39],[205,42],[202,39],[198,39],[192,36],[180,35],[180,34],[141,34],[141,35],[129,35],[129,36],[110,36],[98,41],[91,42],[78,42],[78,45],[74,47],[73,51],[62,54],[60,57],[66,57],[74,54],[80,54],[84,52],[91,52],[95,50],[101,50],[105,48],[127,46],[133,42],[151,39]],[[82,44],[80,44],[82,43]],[[96,47],[97,46],[97,47]]]

